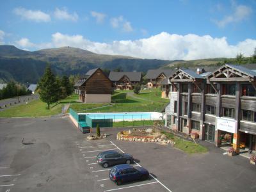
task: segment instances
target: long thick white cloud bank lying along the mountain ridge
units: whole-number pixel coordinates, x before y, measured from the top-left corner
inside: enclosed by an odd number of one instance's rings
[[[237,53],[251,56],[256,47],[256,40],[246,39],[236,45],[229,45],[225,37],[198,36],[195,34],[176,35],[166,32],[138,40],[120,40],[110,43],[92,42],[82,35],[52,34],[47,44],[32,44],[20,40],[20,46],[33,45],[36,48],[79,47],[99,54],[118,54],[137,58],[162,60],[197,60],[204,58],[234,58]],[[26,47],[26,46],[25,46]]]

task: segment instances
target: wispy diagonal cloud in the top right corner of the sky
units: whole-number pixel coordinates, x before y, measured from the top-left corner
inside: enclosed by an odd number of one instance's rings
[[[231,15],[227,15],[221,20],[214,20],[214,22],[220,28],[224,28],[225,26],[227,26],[227,24],[230,24],[232,22],[240,22],[242,20],[245,20],[252,13],[252,8],[250,8],[249,6],[245,6],[245,5],[236,6],[236,4],[233,4],[233,6],[234,6],[234,12]]]

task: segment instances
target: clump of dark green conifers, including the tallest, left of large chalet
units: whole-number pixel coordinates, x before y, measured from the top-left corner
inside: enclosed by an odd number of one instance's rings
[[[75,78],[73,80],[75,81]],[[70,79],[67,76],[56,77],[51,67],[47,66],[36,90],[40,95],[40,99],[47,104],[47,109],[50,109],[50,104],[73,93],[73,83],[70,83]]]

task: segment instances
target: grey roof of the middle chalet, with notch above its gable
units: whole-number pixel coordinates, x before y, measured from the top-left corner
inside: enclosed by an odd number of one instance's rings
[[[141,81],[141,72],[115,72],[109,73],[111,81],[119,81],[122,77],[127,76],[130,81]]]

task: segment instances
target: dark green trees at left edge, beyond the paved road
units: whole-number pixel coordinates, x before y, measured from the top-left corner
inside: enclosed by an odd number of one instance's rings
[[[0,90],[0,99],[8,99],[28,94],[31,94],[31,91],[27,90],[25,86],[11,81],[7,83],[7,85],[2,90]]]

